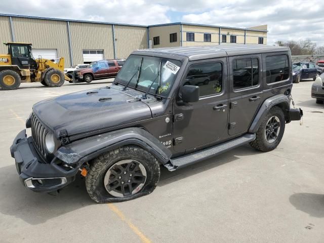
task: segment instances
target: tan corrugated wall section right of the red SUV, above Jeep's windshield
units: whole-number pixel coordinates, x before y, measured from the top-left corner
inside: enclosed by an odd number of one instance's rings
[[[115,25],[117,58],[127,58],[133,51],[148,48],[147,28]]]

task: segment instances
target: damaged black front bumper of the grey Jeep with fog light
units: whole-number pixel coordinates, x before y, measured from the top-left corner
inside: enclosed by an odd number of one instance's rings
[[[74,181],[75,174],[64,172],[54,163],[48,164],[37,154],[32,137],[27,138],[22,130],[10,147],[11,156],[15,158],[16,169],[22,184],[37,192],[57,191]]]

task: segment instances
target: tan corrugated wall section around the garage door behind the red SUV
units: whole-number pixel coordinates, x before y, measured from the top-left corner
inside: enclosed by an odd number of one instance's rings
[[[83,63],[83,50],[103,50],[105,59],[113,59],[112,25],[70,22],[74,64]]]

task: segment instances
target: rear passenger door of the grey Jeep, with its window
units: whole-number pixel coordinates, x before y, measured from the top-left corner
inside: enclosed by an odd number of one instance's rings
[[[263,85],[260,63],[260,54],[229,58],[229,135],[247,132],[261,105]]]

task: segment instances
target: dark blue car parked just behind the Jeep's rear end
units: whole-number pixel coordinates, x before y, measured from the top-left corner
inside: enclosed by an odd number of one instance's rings
[[[302,79],[313,78],[323,73],[323,69],[312,62],[293,63],[293,82],[299,83]]]

